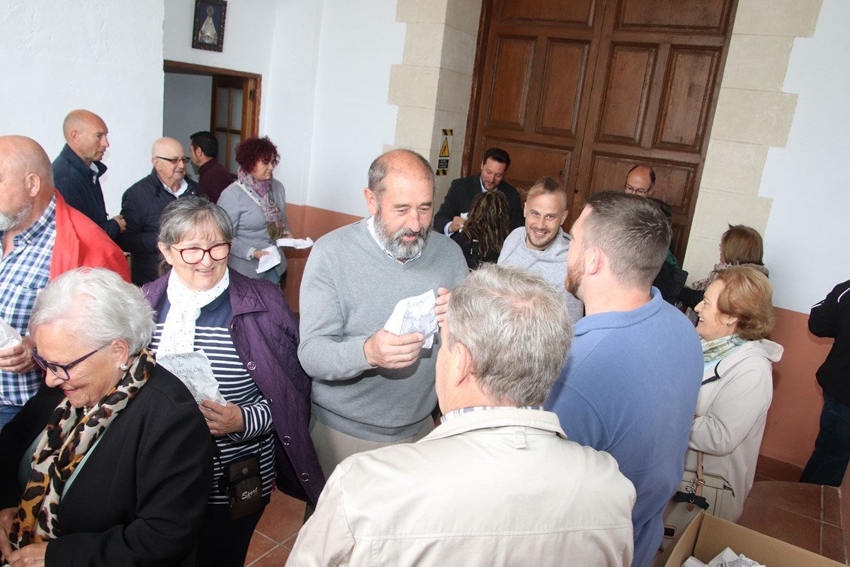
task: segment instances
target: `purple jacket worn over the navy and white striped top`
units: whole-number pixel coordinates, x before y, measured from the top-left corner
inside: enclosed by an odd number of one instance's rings
[[[310,439],[311,383],[298,362],[295,315],[278,286],[234,269],[229,274],[230,337],[248,374],[269,400],[275,422],[275,485],[315,506],[325,477]],[[161,306],[167,287],[167,274],[144,286],[154,309]]]

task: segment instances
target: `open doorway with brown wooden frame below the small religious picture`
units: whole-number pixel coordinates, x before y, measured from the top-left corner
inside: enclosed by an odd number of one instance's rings
[[[218,139],[218,161],[234,176],[235,148],[259,132],[262,76],[166,60],[162,134],[186,150],[189,137],[208,130]]]

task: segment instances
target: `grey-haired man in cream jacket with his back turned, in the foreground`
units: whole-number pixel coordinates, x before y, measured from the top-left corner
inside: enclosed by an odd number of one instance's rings
[[[440,334],[441,424],[343,461],[288,564],[631,564],[632,484],[540,407],[573,337],[560,294],[484,264]]]

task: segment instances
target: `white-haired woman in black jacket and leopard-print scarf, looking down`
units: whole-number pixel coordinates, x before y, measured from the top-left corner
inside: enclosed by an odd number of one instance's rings
[[[30,318],[45,383],[0,433],[9,564],[190,565],[212,443],[146,348],[153,314],[108,269],[60,275]]]

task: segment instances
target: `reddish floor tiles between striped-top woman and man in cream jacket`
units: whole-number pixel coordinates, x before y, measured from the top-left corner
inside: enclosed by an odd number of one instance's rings
[[[304,503],[275,490],[254,530],[245,565],[280,567],[289,558],[304,519]]]

